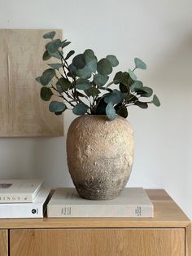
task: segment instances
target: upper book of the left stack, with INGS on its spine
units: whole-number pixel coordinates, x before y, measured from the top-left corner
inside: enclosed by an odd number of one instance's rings
[[[0,179],[0,204],[31,203],[42,183],[41,179]]]

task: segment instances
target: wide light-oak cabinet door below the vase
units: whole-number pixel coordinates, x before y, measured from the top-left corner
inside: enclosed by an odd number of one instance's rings
[[[11,256],[184,256],[184,228],[11,230]]]

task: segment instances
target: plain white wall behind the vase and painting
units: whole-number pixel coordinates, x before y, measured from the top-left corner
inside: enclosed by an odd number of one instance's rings
[[[128,186],[164,188],[192,218],[192,2],[190,0],[0,0],[1,29],[63,29],[76,52],[115,54],[120,68],[135,56],[138,76],[162,106],[129,108],[135,159]],[[70,50],[70,47],[69,47]],[[65,114],[66,131],[74,116]],[[71,186],[65,138],[0,139],[0,178],[44,175]]]

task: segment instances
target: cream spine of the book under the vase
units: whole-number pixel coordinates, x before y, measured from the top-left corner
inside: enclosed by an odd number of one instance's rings
[[[47,205],[48,218],[152,218],[153,212],[153,205]]]

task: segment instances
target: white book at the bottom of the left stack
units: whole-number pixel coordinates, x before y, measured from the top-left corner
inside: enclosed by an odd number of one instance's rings
[[[43,218],[50,188],[42,187],[33,203],[1,204],[0,218]]]

